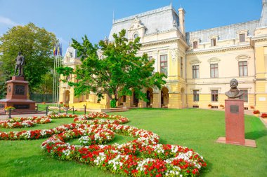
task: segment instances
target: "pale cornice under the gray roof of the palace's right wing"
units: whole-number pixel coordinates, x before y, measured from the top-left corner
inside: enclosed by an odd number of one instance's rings
[[[185,52],[185,55],[201,55],[201,54],[209,54],[209,53],[216,53],[216,52],[227,52],[232,50],[245,50],[245,49],[251,49],[251,45],[238,45],[238,46],[227,46],[227,47],[221,47],[221,48],[206,48],[204,50],[189,50]]]

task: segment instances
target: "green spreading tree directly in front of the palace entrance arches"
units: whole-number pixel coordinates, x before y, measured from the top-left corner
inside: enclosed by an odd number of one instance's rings
[[[166,83],[163,73],[152,73],[155,59],[149,60],[147,54],[136,55],[141,48],[140,38],[129,41],[125,33],[123,29],[113,34],[114,41],[100,41],[98,45],[92,45],[87,36],[82,38],[82,43],[72,39],[72,47],[77,49],[82,64],[76,69],[60,67],[58,73],[75,77],[77,82],[69,82],[74,86],[75,97],[94,92],[99,99],[107,94],[117,103],[119,97],[131,95],[134,90],[138,99],[147,101],[143,88],[161,89]],[[103,57],[98,57],[99,51]]]

